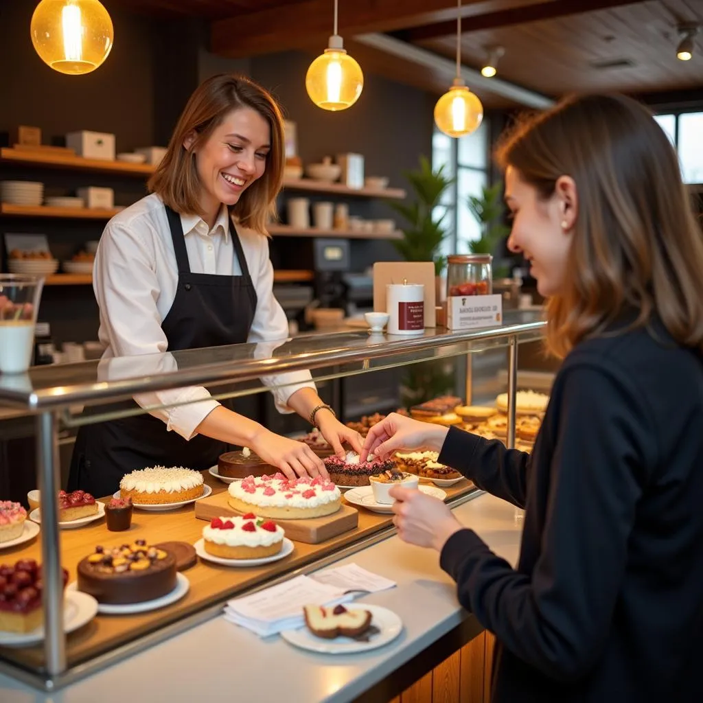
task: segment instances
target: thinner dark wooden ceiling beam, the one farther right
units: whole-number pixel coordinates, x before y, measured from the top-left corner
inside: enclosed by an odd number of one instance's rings
[[[634,5],[646,0],[543,0],[531,5],[498,10],[495,12],[473,15],[462,21],[461,29],[463,34],[470,32],[482,32],[484,30],[494,30],[498,27],[508,27],[510,25],[524,25],[527,22],[537,22],[538,20],[553,20],[567,15],[579,15],[584,12],[594,10],[605,10],[621,5]],[[438,39],[439,37],[449,37],[456,34],[456,20],[446,22],[435,22],[423,27],[413,27],[394,34],[403,41],[426,41],[427,39]]]

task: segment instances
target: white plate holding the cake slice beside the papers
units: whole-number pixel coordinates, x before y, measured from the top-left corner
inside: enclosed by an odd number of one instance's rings
[[[370,636],[368,642],[359,642],[349,637],[335,637],[325,640],[311,633],[307,627],[298,630],[285,630],[280,636],[291,645],[319,654],[354,654],[368,652],[392,642],[403,631],[403,621],[392,611],[380,605],[354,603],[349,609],[368,610],[371,614],[371,624],[378,627],[379,633]]]

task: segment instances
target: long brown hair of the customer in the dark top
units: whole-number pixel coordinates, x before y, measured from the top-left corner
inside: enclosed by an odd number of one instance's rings
[[[658,317],[679,344],[703,351],[703,233],[676,151],[625,96],[568,98],[519,121],[497,151],[546,200],[560,176],[579,198],[565,290],[547,305],[547,344],[565,356],[628,309],[631,328]]]

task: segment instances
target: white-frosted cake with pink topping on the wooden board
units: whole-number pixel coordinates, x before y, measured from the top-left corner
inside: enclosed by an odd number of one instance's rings
[[[283,474],[247,476],[229,484],[229,505],[238,512],[253,512],[275,520],[302,520],[337,512],[342,494],[333,482],[321,477],[288,479]]]

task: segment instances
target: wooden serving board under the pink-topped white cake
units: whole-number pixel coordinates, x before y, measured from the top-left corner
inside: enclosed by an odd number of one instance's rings
[[[227,502],[228,497],[228,492],[224,491],[197,501],[195,517],[199,517],[200,520],[212,520],[213,517],[241,515],[238,510],[231,508]],[[286,537],[296,542],[319,544],[358,527],[359,512],[350,505],[342,503],[342,507],[332,515],[311,517],[308,520],[275,520],[275,522],[283,527]]]

